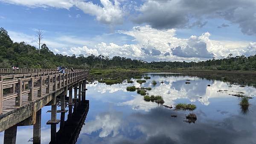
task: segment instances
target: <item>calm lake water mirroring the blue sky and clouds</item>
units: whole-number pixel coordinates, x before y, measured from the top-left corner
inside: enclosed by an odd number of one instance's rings
[[[86,99],[90,100],[90,109],[77,144],[256,143],[256,88],[253,86],[241,87],[229,82],[179,74],[145,75],[151,79],[143,84],[134,82],[110,86],[97,81],[87,84]],[[191,80],[191,84],[185,84],[187,79]],[[153,80],[157,81],[157,85],[151,84]],[[167,109],[154,102],[144,101],[143,96],[137,92],[127,92],[126,87],[133,85],[151,87],[149,95],[161,95],[164,105],[173,107],[180,102],[195,104],[197,109],[193,113],[197,120],[195,123],[187,123],[185,120],[189,111]],[[248,111],[241,109],[241,98],[233,96],[238,92],[252,97],[249,99]],[[50,107],[42,109],[41,144],[50,141],[50,126],[46,122],[51,114],[47,110]],[[57,119],[60,119],[59,113]],[[18,127],[16,144],[32,143],[28,142],[32,132],[33,126]],[[3,134],[0,133],[1,143]]]

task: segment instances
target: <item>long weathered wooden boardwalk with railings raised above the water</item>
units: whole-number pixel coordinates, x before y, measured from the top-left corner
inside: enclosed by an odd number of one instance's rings
[[[58,73],[55,69],[41,71],[0,76],[0,132],[15,125],[17,127],[17,124],[28,118],[34,124],[36,113],[45,105],[56,107],[56,97],[58,95],[65,97],[67,91],[71,95],[69,104],[72,105],[73,101],[76,104],[85,101],[85,82],[89,76],[89,70],[74,72],[68,70],[64,74]],[[9,70],[1,72],[9,72]],[[23,70],[22,72],[28,71]],[[73,88],[75,89],[75,98],[72,98]],[[54,116],[56,110],[52,111],[52,119],[49,121],[51,124],[58,122],[56,115]]]

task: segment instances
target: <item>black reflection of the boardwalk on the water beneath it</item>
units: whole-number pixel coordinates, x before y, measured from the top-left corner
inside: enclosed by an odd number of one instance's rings
[[[72,115],[68,115],[67,121],[64,121],[65,113],[61,113],[60,130],[56,132],[56,140],[51,139],[49,144],[75,144],[84,125],[88,110],[89,101],[86,100],[81,106],[77,107]],[[51,135],[55,135],[52,129]]]

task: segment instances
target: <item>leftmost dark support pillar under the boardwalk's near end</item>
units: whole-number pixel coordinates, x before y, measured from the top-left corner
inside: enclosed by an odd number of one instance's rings
[[[17,135],[17,125],[4,131],[3,144],[15,144]]]

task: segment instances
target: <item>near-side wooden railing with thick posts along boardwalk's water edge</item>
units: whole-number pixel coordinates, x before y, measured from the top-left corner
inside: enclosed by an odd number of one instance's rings
[[[15,98],[15,106],[22,106],[22,95],[28,94],[28,101],[33,101],[34,92],[42,97],[42,89],[46,94],[67,86],[89,75],[89,70],[76,70],[74,72],[58,73],[57,71],[38,72],[18,75],[0,76],[0,114],[3,112],[3,101]],[[8,90],[9,89],[9,90]]]

